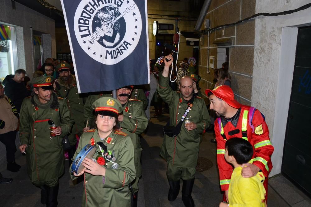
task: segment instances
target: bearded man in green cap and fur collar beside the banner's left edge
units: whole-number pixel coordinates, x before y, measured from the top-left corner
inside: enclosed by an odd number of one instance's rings
[[[83,99],[80,97],[77,88],[77,82],[74,75],[70,73],[70,65],[68,63],[60,63],[56,67],[59,78],[56,82],[56,92],[58,97],[65,99],[71,118],[75,121],[72,130],[68,134],[70,149],[68,149],[69,166],[72,163],[72,156],[76,151],[77,136],[83,133]],[[57,86],[57,83],[59,86]]]

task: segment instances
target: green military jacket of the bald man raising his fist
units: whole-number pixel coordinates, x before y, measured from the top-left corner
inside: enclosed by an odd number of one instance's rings
[[[169,78],[159,75],[157,90],[160,97],[169,105],[169,125],[176,126],[187,110],[187,101],[180,92],[169,87]],[[188,131],[185,123],[177,137],[164,136],[160,155],[176,167],[196,167],[200,145],[200,133],[209,127],[211,119],[204,100],[196,97],[187,118],[197,124],[197,128]]]

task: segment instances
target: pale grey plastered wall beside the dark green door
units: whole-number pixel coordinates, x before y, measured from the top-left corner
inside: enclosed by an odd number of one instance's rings
[[[310,0],[256,1],[256,13],[297,9]],[[289,15],[258,17],[255,22],[252,105],[265,116],[274,146],[270,176],[281,172],[293,80],[297,33],[311,25],[311,8]]]

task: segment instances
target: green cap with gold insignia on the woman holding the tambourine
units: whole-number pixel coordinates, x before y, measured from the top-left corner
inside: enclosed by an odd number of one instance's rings
[[[112,97],[102,97],[94,101],[92,109],[100,115],[118,117],[123,111],[120,102]]]

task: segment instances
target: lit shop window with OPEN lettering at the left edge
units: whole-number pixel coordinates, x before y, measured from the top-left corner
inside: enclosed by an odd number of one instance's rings
[[[0,23],[0,80],[17,70],[15,28]]]

